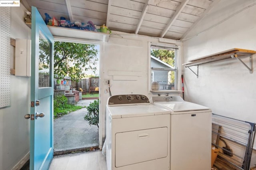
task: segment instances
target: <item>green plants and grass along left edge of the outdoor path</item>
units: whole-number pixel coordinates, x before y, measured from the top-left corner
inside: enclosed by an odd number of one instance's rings
[[[66,115],[72,111],[82,109],[82,106],[74,106],[68,104],[68,99],[65,96],[61,95],[54,97],[53,108],[53,115],[54,118],[56,118],[62,115]]]

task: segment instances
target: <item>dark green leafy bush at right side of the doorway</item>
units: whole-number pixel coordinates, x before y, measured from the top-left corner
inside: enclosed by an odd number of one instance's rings
[[[99,99],[95,100],[87,108],[87,114],[84,120],[88,121],[89,125],[96,125],[99,128]]]

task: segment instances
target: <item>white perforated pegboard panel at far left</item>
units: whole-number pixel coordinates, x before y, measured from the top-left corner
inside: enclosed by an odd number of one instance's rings
[[[11,7],[0,7],[0,107],[10,106]]]

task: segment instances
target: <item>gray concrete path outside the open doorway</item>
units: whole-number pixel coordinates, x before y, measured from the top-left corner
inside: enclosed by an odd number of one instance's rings
[[[88,106],[94,100],[81,100],[80,106]],[[83,108],[54,120],[54,154],[82,151],[99,145],[96,125],[84,120],[87,109]]]

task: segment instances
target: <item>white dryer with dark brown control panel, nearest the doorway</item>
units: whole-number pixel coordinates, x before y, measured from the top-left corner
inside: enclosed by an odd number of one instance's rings
[[[170,111],[144,95],[116,95],[106,106],[108,170],[170,170]]]

